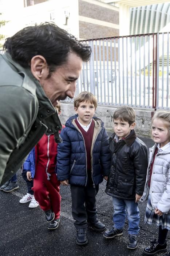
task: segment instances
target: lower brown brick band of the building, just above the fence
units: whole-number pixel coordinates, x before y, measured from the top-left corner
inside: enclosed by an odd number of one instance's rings
[[[96,25],[79,21],[79,38],[93,39],[102,37],[115,37],[119,35],[119,29]]]

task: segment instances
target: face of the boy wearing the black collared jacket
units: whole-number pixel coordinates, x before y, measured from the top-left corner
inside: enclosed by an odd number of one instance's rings
[[[114,132],[119,137],[119,139],[125,138],[129,135],[130,131],[135,127],[135,123],[129,125],[126,121],[120,121],[120,119],[114,119]]]

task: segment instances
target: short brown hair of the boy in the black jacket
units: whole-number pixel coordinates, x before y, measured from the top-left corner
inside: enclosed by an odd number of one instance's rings
[[[113,114],[113,119],[128,122],[129,125],[135,123],[135,110],[129,106],[120,106]]]

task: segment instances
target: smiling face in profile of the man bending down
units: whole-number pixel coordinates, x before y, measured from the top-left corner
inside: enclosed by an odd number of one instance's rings
[[[75,53],[69,53],[67,62],[51,73],[50,78],[39,79],[39,82],[52,102],[53,106],[58,101],[64,100],[67,96],[74,97],[76,90],[76,80],[79,78],[82,70],[82,59]]]

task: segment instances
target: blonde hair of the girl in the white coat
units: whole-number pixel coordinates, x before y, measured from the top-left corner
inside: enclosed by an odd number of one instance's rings
[[[155,119],[161,119],[163,121],[163,124],[165,125],[165,128],[167,129],[167,131],[169,133],[169,140],[170,140],[170,112],[169,111],[156,111],[152,118],[151,124],[153,124],[153,121]],[[152,135],[151,135],[151,137],[152,137]],[[152,137],[152,139],[153,139],[153,137]]]

